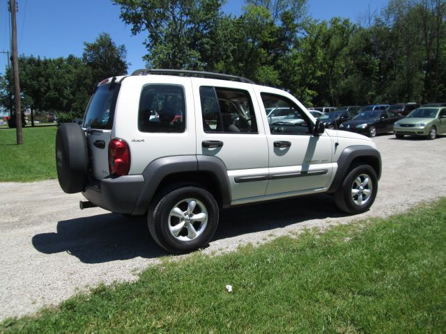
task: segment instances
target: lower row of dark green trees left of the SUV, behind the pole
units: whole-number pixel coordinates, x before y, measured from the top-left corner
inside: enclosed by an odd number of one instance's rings
[[[94,42],[84,42],[81,58],[20,56],[22,106],[31,111],[31,125],[36,112],[39,118],[56,113],[62,121],[82,116],[95,84],[127,73],[126,53],[124,45],[117,46],[109,34],[100,33]],[[14,99],[13,71],[7,69],[0,77],[0,104],[13,114]]]

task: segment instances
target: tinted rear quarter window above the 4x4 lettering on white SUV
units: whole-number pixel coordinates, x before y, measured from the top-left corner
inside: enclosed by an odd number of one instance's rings
[[[181,86],[146,85],[139,100],[141,132],[184,132],[185,98]]]

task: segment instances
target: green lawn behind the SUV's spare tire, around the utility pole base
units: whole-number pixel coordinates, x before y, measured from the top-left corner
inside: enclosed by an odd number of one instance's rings
[[[54,179],[57,127],[24,127],[23,144],[15,129],[0,129],[0,182]]]

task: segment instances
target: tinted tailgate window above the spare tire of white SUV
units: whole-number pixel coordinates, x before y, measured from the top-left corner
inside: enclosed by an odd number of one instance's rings
[[[120,87],[119,84],[107,84],[95,91],[86,109],[84,127],[112,129],[114,108]]]

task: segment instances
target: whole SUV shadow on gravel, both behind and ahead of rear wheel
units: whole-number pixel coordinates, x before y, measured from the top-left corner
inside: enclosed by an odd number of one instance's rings
[[[213,240],[340,216],[327,195],[236,207],[221,212]],[[112,213],[59,221],[57,232],[36,234],[32,243],[41,253],[67,252],[89,264],[169,255],[151,238],[145,216]]]

